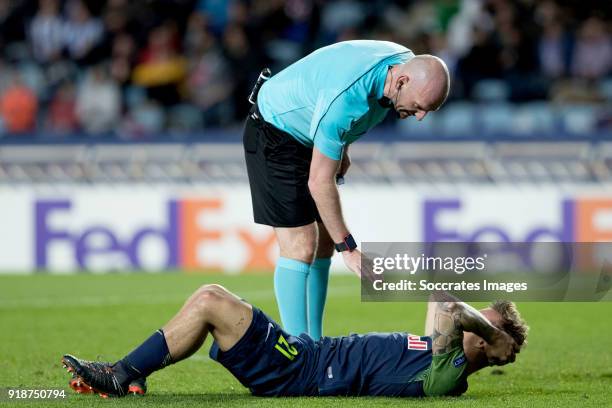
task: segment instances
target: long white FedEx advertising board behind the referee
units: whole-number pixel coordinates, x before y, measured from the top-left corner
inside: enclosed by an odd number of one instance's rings
[[[342,197],[363,241],[612,240],[612,193],[345,186]],[[246,185],[0,189],[0,272],[269,271],[277,251]]]

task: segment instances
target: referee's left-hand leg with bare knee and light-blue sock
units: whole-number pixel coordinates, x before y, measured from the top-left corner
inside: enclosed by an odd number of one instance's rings
[[[317,247],[317,224],[274,228],[280,258],[274,269],[274,294],[286,331],[308,331],[306,284]]]

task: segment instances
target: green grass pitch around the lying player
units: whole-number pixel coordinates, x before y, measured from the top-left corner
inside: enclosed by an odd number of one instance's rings
[[[277,318],[271,275],[116,274],[0,277],[0,388],[64,387],[63,353],[89,359],[122,357],[161,327],[199,285],[220,283]],[[517,362],[470,377],[460,398],[251,397],[208,358],[206,345],[189,360],[149,378],[143,397],[104,400],[70,393],[62,402],[16,406],[153,407],[568,407],[612,406],[612,303],[523,303],[529,346]],[[359,282],[333,276],[327,335],[368,331],[422,333],[425,305],[361,303]],[[0,405],[7,404],[0,401]]]

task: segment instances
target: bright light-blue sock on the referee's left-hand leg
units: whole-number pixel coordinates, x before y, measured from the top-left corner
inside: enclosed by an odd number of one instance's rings
[[[274,270],[274,294],[283,327],[297,336],[308,331],[306,280],[310,265],[289,258],[278,258]]]

